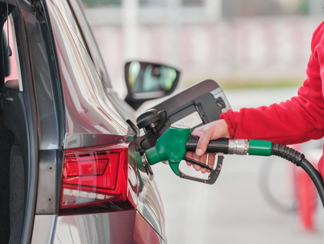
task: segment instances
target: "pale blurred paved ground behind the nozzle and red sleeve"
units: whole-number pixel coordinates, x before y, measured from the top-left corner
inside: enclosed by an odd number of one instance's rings
[[[289,99],[296,89],[226,91],[237,110]],[[275,158],[268,158],[272,161]],[[165,164],[153,166],[166,215],[168,243],[323,243],[324,216],[318,230],[305,233],[294,213],[282,213],[267,204],[260,193],[262,157],[226,156],[221,175],[212,185],[176,177]],[[268,161],[269,163],[269,161]],[[289,202],[291,168],[276,160],[271,189]]]

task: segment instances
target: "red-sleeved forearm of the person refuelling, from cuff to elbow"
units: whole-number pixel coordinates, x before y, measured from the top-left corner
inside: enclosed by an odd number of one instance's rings
[[[310,115],[307,109],[292,101],[269,107],[227,111],[225,119],[230,137],[270,140],[281,144],[301,143],[324,136],[321,114]]]

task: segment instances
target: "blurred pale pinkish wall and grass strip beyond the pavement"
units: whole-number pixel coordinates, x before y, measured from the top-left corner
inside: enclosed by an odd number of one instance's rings
[[[224,88],[298,86],[305,78],[320,0],[84,0],[113,85],[125,60],[182,70]],[[123,96],[126,87],[123,87]]]

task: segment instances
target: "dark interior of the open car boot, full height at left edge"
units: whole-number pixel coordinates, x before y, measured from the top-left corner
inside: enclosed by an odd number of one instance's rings
[[[14,9],[8,0],[8,12]],[[7,18],[6,1],[0,1],[0,16],[3,29]],[[18,80],[7,80],[10,63],[7,56],[7,35],[2,32],[0,67],[0,242],[19,243],[23,226],[25,169],[24,158],[28,156],[26,112]],[[10,43],[13,49],[13,43]]]

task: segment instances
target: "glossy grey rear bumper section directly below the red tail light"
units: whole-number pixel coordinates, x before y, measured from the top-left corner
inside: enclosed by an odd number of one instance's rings
[[[59,216],[52,243],[145,244],[164,240],[136,210],[129,210]]]

